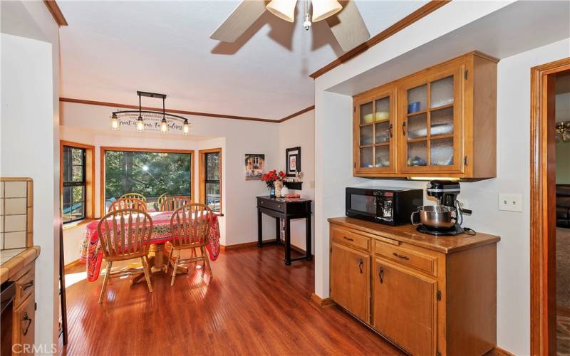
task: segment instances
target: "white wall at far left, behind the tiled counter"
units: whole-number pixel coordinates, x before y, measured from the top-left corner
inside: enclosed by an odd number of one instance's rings
[[[1,1],[0,13],[0,175],[34,180],[35,335],[45,351],[58,340],[59,28],[43,1]]]

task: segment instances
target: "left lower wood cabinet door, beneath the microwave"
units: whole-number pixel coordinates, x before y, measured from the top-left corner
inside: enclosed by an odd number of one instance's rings
[[[331,245],[331,298],[366,322],[370,320],[370,259],[368,253]]]

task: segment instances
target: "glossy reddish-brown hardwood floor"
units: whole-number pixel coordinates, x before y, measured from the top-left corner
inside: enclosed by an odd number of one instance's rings
[[[161,273],[152,277],[154,293],[111,280],[103,305],[102,278],[74,283],[61,354],[402,355],[336,305],[311,303],[313,262],[284,266],[283,258],[282,246],[224,251],[212,281],[197,268],[170,287],[170,273]]]

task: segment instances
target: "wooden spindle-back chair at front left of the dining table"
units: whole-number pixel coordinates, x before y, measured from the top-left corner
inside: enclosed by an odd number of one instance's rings
[[[111,267],[115,261],[140,258],[148,290],[152,292],[150,267],[147,258],[149,241],[152,236],[152,219],[150,219],[147,212],[140,209],[110,211],[110,213],[100,219],[97,233],[99,234],[101,251],[103,251],[103,259],[107,261],[99,303],[103,302],[105,288],[107,288],[110,278],[140,275],[140,269],[111,273]]]

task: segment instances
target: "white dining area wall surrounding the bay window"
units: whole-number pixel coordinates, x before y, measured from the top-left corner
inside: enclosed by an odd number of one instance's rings
[[[134,93],[133,93],[134,96]],[[134,97],[136,98],[136,97]],[[61,103],[61,140],[95,145],[95,177],[100,177],[100,147],[141,147],[202,150],[222,147],[222,212],[219,218],[223,245],[242,244],[257,239],[257,195],[265,195],[265,184],[246,181],[244,155],[264,153],[266,167],[279,167],[284,154],[279,152],[279,125],[271,122],[220,119],[216,117],[188,116],[191,136],[162,136],[154,132],[110,131],[110,112],[116,108],[76,103]],[[207,140],[206,140],[207,139]],[[281,157],[283,156],[283,157]],[[198,177],[198,157],[195,177]],[[95,197],[99,197],[100,182],[95,179]],[[197,179],[195,179],[197,182]],[[195,189],[197,192],[197,189]],[[99,199],[95,211],[99,211]],[[78,226],[76,229],[81,229]],[[83,229],[85,227],[83,226]],[[274,220],[264,218],[264,238],[274,237]],[[68,235],[66,230],[66,236]],[[71,235],[71,234],[70,234]],[[78,234],[76,236],[80,236]],[[70,247],[72,248],[72,247]],[[71,255],[71,253],[70,253]],[[68,260],[66,257],[66,261]]]

